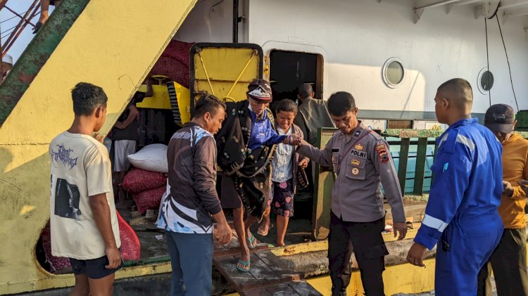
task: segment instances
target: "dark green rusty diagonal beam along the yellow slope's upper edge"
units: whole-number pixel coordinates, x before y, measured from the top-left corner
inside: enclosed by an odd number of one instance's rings
[[[0,85],[0,124],[3,124],[40,68],[54,52],[89,0],[63,0],[27,46]]]

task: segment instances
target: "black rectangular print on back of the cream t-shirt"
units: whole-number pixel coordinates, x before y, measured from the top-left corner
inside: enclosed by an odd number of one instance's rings
[[[75,184],[69,184],[65,179],[57,178],[55,186],[55,214],[59,217],[79,220],[80,192]]]

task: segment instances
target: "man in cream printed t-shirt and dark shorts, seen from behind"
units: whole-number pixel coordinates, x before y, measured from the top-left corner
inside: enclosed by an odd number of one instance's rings
[[[108,98],[86,82],[75,86],[72,98],[73,124],[49,145],[51,253],[70,259],[70,295],[112,295],[122,267],[118,217],[108,150],[92,136],[106,119]]]

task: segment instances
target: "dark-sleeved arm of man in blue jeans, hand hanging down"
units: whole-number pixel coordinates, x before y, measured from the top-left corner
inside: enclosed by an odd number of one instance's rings
[[[216,145],[212,136],[204,136],[194,148],[194,192],[201,200],[203,207],[213,216],[218,224],[215,238],[222,245],[231,240],[231,228],[227,224],[224,212],[216,191]]]

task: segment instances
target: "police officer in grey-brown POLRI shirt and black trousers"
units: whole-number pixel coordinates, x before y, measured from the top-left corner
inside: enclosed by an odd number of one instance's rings
[[[328,110],[339,131],[320,150],[303,141],[298,153],[320,165],[333,166],[328,257],[332,295],[346,295],[352,250],[356,254],[366,295],[384,295],[382,272],[388,255],[382,237],[385,190],[394,219],[394,236],[405,238],[407,226],[401,189],[386,141],[357,119],[351,94],[339,91],[328,99]]]

